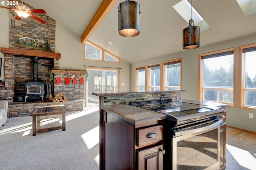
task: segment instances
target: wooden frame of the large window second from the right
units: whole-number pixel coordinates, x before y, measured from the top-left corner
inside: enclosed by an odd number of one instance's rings
[[[218,53],[226,53],[229,51],[233,51],[233,53],[234,53],[234,57],[233,57],[234,58],[233,104],[220,101],[220,96],[219,96],[220,91],[230,91],[230,89],[218,88],[218,87],[217,88],[216,87],[215,88],[214,87],[203,87],[203,85],[204,85],[204,61],[202,58],[207,55],[215,55]],[[198,54],[198,100],[199,101],[203,101],[203,99],[204,99],[203,98],[204,89],[217,90],[217,102],[216,103],[226,103],[226,104],[229,104],[230,107],[236,108],[236,47]],[[210,102],[210,101],[207,101],[207,102]]]

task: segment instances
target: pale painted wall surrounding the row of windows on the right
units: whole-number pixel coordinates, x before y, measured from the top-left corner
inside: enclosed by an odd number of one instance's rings
[[[167,61],[171,59],[182,58],[182,89],[186,92],[182,93],[183,99],[198,99],[198,54],[207,53],[211,51],[218,51],[220,49],[227,49],[237,47],[236,61],[238,62],[238,47],[240,45],[247,45],[256,43],[256,34],[229,40],[226,42],[216,43],[198,49],[184,50],[184,52],[172,55],[160,56],[154,59],[134,63],[131,66],[131,89],[135,89],[135,67],[157,63],[160,61]],[[202,44],[201,44],[202,45]],[[227,108],[227,121],[229,126],[251,130],[256,132],[256,111],[248,111],[238,108],[238,63],[236,65],[237,82],[236,82],[236,108]],[[249,113],[254,113],[254,119],[249,118]]]

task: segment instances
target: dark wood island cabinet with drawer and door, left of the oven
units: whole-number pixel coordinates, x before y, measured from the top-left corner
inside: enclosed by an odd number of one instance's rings
[[[101,170],[163,170],[162,121],[133,125],[104,110],[101,117]]]

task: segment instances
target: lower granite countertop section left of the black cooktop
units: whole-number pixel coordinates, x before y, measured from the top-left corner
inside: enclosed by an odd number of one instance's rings
[[[110,111],[133,125],[167,119],[165,114],[132,105],[108,105],[101,106],[101,109]]]

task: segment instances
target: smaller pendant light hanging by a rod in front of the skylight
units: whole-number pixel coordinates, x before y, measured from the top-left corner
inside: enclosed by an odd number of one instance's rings
[[[190,20],[188,27],[183,30],[183,49],[198,47],[200,47],[200,27],[195,26],[194,20],[192,20],[192,0],[190,0]]]

